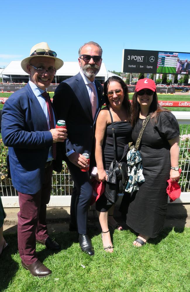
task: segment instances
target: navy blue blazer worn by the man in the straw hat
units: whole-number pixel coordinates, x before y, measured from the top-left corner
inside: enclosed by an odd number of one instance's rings
[[[8,146],[7,162],[13,186],[18,192],[37,193],[42,187],[53,138],[43,109],[29,84],[6,100],[1,133],[5,146]]]

